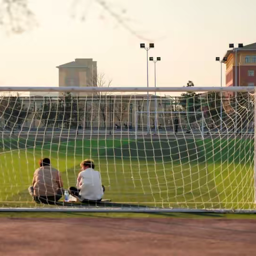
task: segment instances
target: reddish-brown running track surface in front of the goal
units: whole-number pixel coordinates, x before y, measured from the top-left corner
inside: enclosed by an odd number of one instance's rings
[[[256,220],[0,219],[0,255],[255,255]]]

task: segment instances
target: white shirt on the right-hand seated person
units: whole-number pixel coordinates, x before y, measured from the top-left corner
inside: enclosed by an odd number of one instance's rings
[[[82,199],[100,200],[103,196],[100,173],[92,168],[80,172],[77,178],[77,188],[81,190],[79,194]]]

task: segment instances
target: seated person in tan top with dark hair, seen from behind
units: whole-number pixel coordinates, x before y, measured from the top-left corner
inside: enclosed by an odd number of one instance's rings
[[[32,186],[28,188],[29,194],[38,204],[55,204],[65,192],[60,172],[51,166],[49,158],[41,159],[39,165]]]

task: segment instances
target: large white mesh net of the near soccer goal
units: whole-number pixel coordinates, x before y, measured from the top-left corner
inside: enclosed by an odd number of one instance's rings
[[[1,90],[0,211],[255,210],[250,87]]]

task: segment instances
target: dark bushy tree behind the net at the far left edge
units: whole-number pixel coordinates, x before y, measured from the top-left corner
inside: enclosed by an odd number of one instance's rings
[[[15,126],[24,124],[30,110],[23,104],[23,99],[17,93],[16,96],[3,96],[0,100],[0,111],[4,119],[4,127],[14,129]]]

